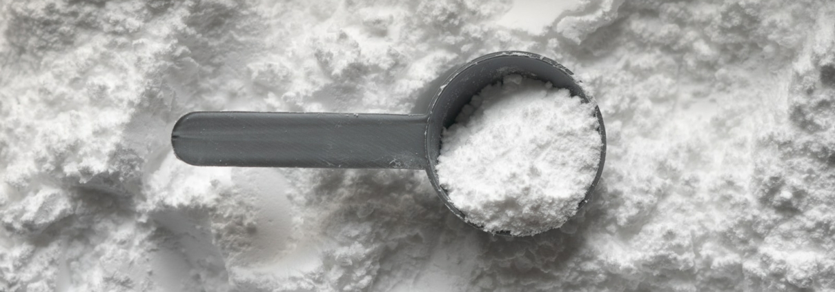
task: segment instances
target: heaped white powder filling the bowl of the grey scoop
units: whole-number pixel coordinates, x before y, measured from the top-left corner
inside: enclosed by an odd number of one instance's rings
[[[484,229],[558,228],[595,179],[602,143],[594,111],[568,89],[509,75],[474,96],[443,133],[438,179]]]

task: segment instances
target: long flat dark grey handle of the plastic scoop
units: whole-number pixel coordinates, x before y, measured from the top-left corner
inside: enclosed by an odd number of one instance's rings
[[[425,169],[427,115],[194,112],[174,126],[192,165]]]

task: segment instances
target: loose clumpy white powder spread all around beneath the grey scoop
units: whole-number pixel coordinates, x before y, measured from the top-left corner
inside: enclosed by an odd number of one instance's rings
[[[581,0],[541,30],[500,24],[512,5],[0,2],[0,290],[835,289],[835,5]],[[473,229],[421,171],[170,149],[195,110],[423,113],[509,49],[605,118],[598,189],[557,230]]]

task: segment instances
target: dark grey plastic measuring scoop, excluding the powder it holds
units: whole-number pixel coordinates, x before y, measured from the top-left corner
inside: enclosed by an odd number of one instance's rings
[[[438,183],[435,164],[441,133],[473,95],[509,74],[567,88],[571,95],[589,102],[571,77],[574,73],[554,60],[534,53],[498,52],[476,58],[450,74],[425,114],[195,112],[175,124],[171,144],[177,158],[192,165],[426,169],[443,204],[468,222],[467,214],[450,203]],[[599,108],[595,107],[595,115],[603,143],[600,165],[578,209],[590,199],[605,162],[606,134]]]

